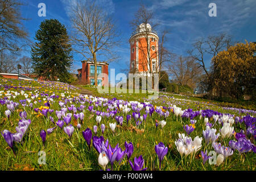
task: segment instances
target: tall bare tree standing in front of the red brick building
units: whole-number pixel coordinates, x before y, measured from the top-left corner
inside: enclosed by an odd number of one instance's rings
[[[97,86],[97,56],[106,62],[117,59],[113,50],[118,45],[118,32],[113,19],[93,1],[77,1],[73,7],[74,50],[94,63],[94,85]]]

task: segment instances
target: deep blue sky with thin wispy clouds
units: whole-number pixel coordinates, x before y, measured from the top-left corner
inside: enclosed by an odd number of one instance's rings
[[[44,19],[58,19],[71,30],[69,10],[76,0],[23,0],[27,5],[22,7],[22,16],[29,20],[24,22],[24,27],[30,34],[32,41],[35,32]],[[232,36],[236,42],[256,41],[256,1],[255,0],[218,0],[218,1],[188,1],[188,0],[95,0],[113,16],[118,30],[121,32],[122,44],[115,48],[120,59],[109,64],[115,68],[115,74],[123,72],[123,68],[129,67],[130,47],[129,38],[133,30],[130,21],[134,19],[134,13],[142,2],[149,10],[154,12],[154,22],[159,24],[158,33],[169,30],[165,47],[178,55],[187,56],[187,50],[191,49],[193,40],[208,35],[216,35],[225,32]],[[216,3],[217,16],[210,17],[209,3]],[[38,16],[38,4],[46,4],[46,17]],[[28,52],[24,52],[28,55]],[[81,68],[82,56],[74,53],[73,69]],[[104,58],[101,58],[104,59]],[[103,60],[99,60],[103,61]],[[210,57],[206,61],[210,65]]]

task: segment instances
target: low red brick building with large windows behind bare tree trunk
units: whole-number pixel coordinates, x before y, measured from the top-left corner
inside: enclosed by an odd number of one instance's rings
[[[94,85],[94,63],[92,61],[81,61],[82,68],[77,69],[78,72],[78,80],[79,82],[82,82],[83,84],[90,84]],[[106,62],[97,62],[97,83],[98,85],[106,85],[108,84],[108,76],[109,76],[109,64]],[[105,73],[102,77],[99,75],[101,73]]]

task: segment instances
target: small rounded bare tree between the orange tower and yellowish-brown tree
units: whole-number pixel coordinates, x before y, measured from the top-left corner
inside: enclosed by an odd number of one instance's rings
[[[182,57],[176,61],[170,61],[168,72],[179,85],[188,85],[195,89],[197,82],[200,81],[202,68],[192,57]]]

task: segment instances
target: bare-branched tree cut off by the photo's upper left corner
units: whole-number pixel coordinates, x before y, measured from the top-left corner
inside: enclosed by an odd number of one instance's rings
[[[18,0],[0,1],[0,52],[7,50],[13,53],[28,46],[27,32],[23,28]]]

